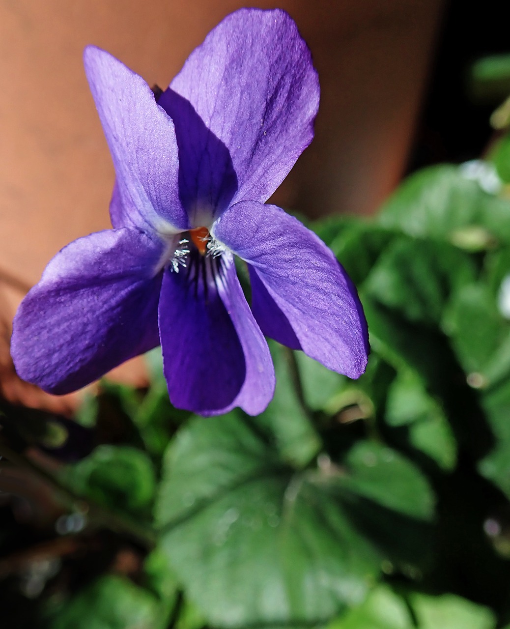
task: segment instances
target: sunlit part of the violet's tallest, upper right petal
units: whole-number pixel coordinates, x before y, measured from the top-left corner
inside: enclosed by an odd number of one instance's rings
[[[160,97],[169,112],[180,108],[174,92],[228,148],[238,180],[232,203],[269,198],[313,138],[317,73],[296,24],[280,9],[240,9],[227,16]],[[176,121],[175,131],[184,143],[186,128]],[[224,167],[219,160],[211,181],[221,179]]]

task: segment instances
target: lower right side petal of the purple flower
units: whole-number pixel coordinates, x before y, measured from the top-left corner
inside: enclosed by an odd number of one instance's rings
[[[263,333],[351,378],[365,370],[368,332],[355,287],[333,252],[296,218],[245,201],[211,231],[248,262]]]

